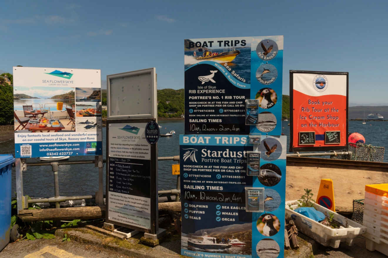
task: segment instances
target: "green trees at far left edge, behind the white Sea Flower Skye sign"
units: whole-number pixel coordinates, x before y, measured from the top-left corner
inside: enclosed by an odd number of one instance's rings
[[[2,85],[1,82],[0,84],[0,125],[9,125],[14,120],[14,114],[12,113],[14,111],[14,90],[8,84]]]

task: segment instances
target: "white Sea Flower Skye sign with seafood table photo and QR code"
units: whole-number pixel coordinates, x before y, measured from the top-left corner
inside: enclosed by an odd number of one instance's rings
[[[13,72],[16,158],[102,154],[100,70]]]

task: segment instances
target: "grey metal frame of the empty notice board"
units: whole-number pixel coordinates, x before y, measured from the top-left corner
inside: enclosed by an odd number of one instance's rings
[[[107,89],[107,95],[106,95],[106,100],[107,100],[107,109],[113,110],[115,108],[111,108],[110,105],[112,103],[111,101],[111,79],[117,79],[117,78],[125,78],[129,76],[134,76],[134,75],[150,75],[151,79],[151,86],[150,86],[150,92],[149,94],[151,95],[151,112],[150,113],[143,113],[143,114],[120,114],[120,115],[111,115],[109,112],[107,113],[107,119],[143,119],[143,118],[154,118],[156,122],[158,122],[158,104],[157,104],[157,89],[156,89],[156,69],[155,67],[152,68],[146,68],[146,69],[141,69],[141,70],[135,70],[131,72],[124,72],[124,73],[115,73],[111,75],[106,76],[106,89]],[[112,96],[112,97],[117,97],[117,96]],[[132,109],[129,109],[132,110]]]

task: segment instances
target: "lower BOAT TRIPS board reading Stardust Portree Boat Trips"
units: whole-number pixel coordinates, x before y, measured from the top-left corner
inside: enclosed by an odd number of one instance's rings
[[[286,137],[264,136],[260,145],[270,146],[260,150],[263,169],[248,176],[248,135],[180,135],[182,255],[282,257]],[[264,187],[264,212],[246,211],[252,186]]]

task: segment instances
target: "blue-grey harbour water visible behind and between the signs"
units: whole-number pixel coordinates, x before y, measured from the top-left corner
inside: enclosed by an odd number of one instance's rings
[[[282,121],[282,132],[289,136],[289,121]],[[172,137],[161,137],[158,141],[158,156],[173,156],[179,154],[179,135],[184,133],[183,120],[161,120],[159,121],[160,132],[167,133],[171,130],[176,132]],[[104,159],[106,130],[103,132]],[[384,121],[349,121],[349,132],[359,132],[364,135],[366,144],[388,148],[388,123]],[[289,139],[288,139],[289,140]],[[287,150],[289,142],[287,143]],[[14,140],[0,143],[1,154],[14,154]],[[326,156],[327,157],[327,156]],[[94,159],[94,156],[71,157],[71,160]],[[28,159],[28,162],[40,162],[38,158]],[[384,157],[388,162],[388,155]],[[176,161],[158,162],[158,188],[168,190],[176,187],[177,176],[171,175],[171,164]],[[105,167],[104,167],[105,169]],[[105,173],[104,173],[105,174]],[[23,173],[24,195],[35,197],[54,196],[54,179],[51,166],[28,167]],[[105,175],[104,175],[105,184]],[[105,187],[105,186],[104,186]],[[105,188],[104,188],[105,189]],[[59,167],[59,192],[61,195],[90,195],[98,190],[98,169],[92,164],[83,165],[61,165]],[[15,189],[15,168],[12,169],[12,195]],[[269,203],[268,203],[269,204]]]

